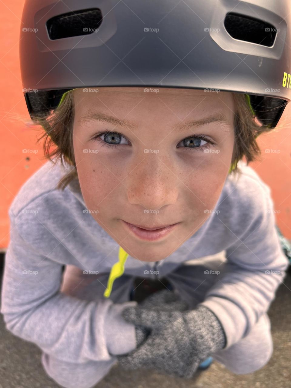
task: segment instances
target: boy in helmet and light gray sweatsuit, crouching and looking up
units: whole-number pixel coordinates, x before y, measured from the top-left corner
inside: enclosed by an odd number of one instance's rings
[[[211,355],[260,369],[288,262],[247,164],[291,98],[290,4],[97,3],[24,5],[24,94],[54,166],[9,208],[6,327],[67,388],[118,361],[186,378]],[[125,272],[105,299],[119,247]],[[173,291],[137,306],[134,281],[151,277]]]

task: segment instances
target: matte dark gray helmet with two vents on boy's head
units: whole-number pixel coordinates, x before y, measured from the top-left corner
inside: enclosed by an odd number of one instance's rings
[[[244,93],[275,128],[291,100],[287,0],[26,0],[20,31],[31,118],[87,87]]]

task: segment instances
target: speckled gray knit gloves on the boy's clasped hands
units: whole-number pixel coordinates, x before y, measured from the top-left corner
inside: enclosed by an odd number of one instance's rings
[[[137,349],[117,356],[121,367],[153,368],[171,376],[191,378],[202,361],[225,347],[223,328],[210,309],[198,305],[185,310],[184,302],[174,303],[177,310],[173,311],[169,306],[163,311],[140,305],[123,310],[125,320],[146,327],[148,334]]]

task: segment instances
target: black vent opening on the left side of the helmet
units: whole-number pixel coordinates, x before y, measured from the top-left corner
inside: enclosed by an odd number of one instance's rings
[[[99,8],[82,9],[52,17],[47,21],[47,31],[51,40],[69,38],[92,34],[101,23]]]

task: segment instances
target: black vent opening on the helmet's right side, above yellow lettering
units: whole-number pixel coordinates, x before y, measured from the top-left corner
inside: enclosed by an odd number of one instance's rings
[[[251,16],[229,12],[224,19],[224,26],[234,39],[257,43],[271,47],[275,42],[277,31],[274,26]]]

